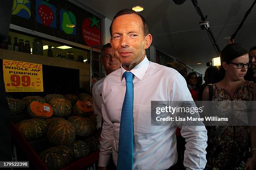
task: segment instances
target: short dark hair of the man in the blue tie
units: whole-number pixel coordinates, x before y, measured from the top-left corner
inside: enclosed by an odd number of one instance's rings
[[[112,37],[112,24],[113,24],[115,18],[117,18],[117,17],[119,17],[119,16],[121,16],[121,15],[125,15],[125,14],[136,14],[136,15],[138,15],[138,16],[141,18],[142,23],[143,23],[144,36],[148,35],[148,33],[149,33],[149,28],[148,28],[148,23],[147,23],[147,21],[145,20],[145,18],[144,18],[141,14],[139,14],[139,13],[133,11],[133,10],[130,10],[130,9],[123,9],[123,10],[120,10],[118,13],[116,13],[115,16],[114,16],[114,18],[113,18],[113,21],[112,21],[112,23],[111,23],[111,25],[110,25],[110,29],[109,29],[109,31],[110,31],[110,36],[111,36],[111,37]]]

